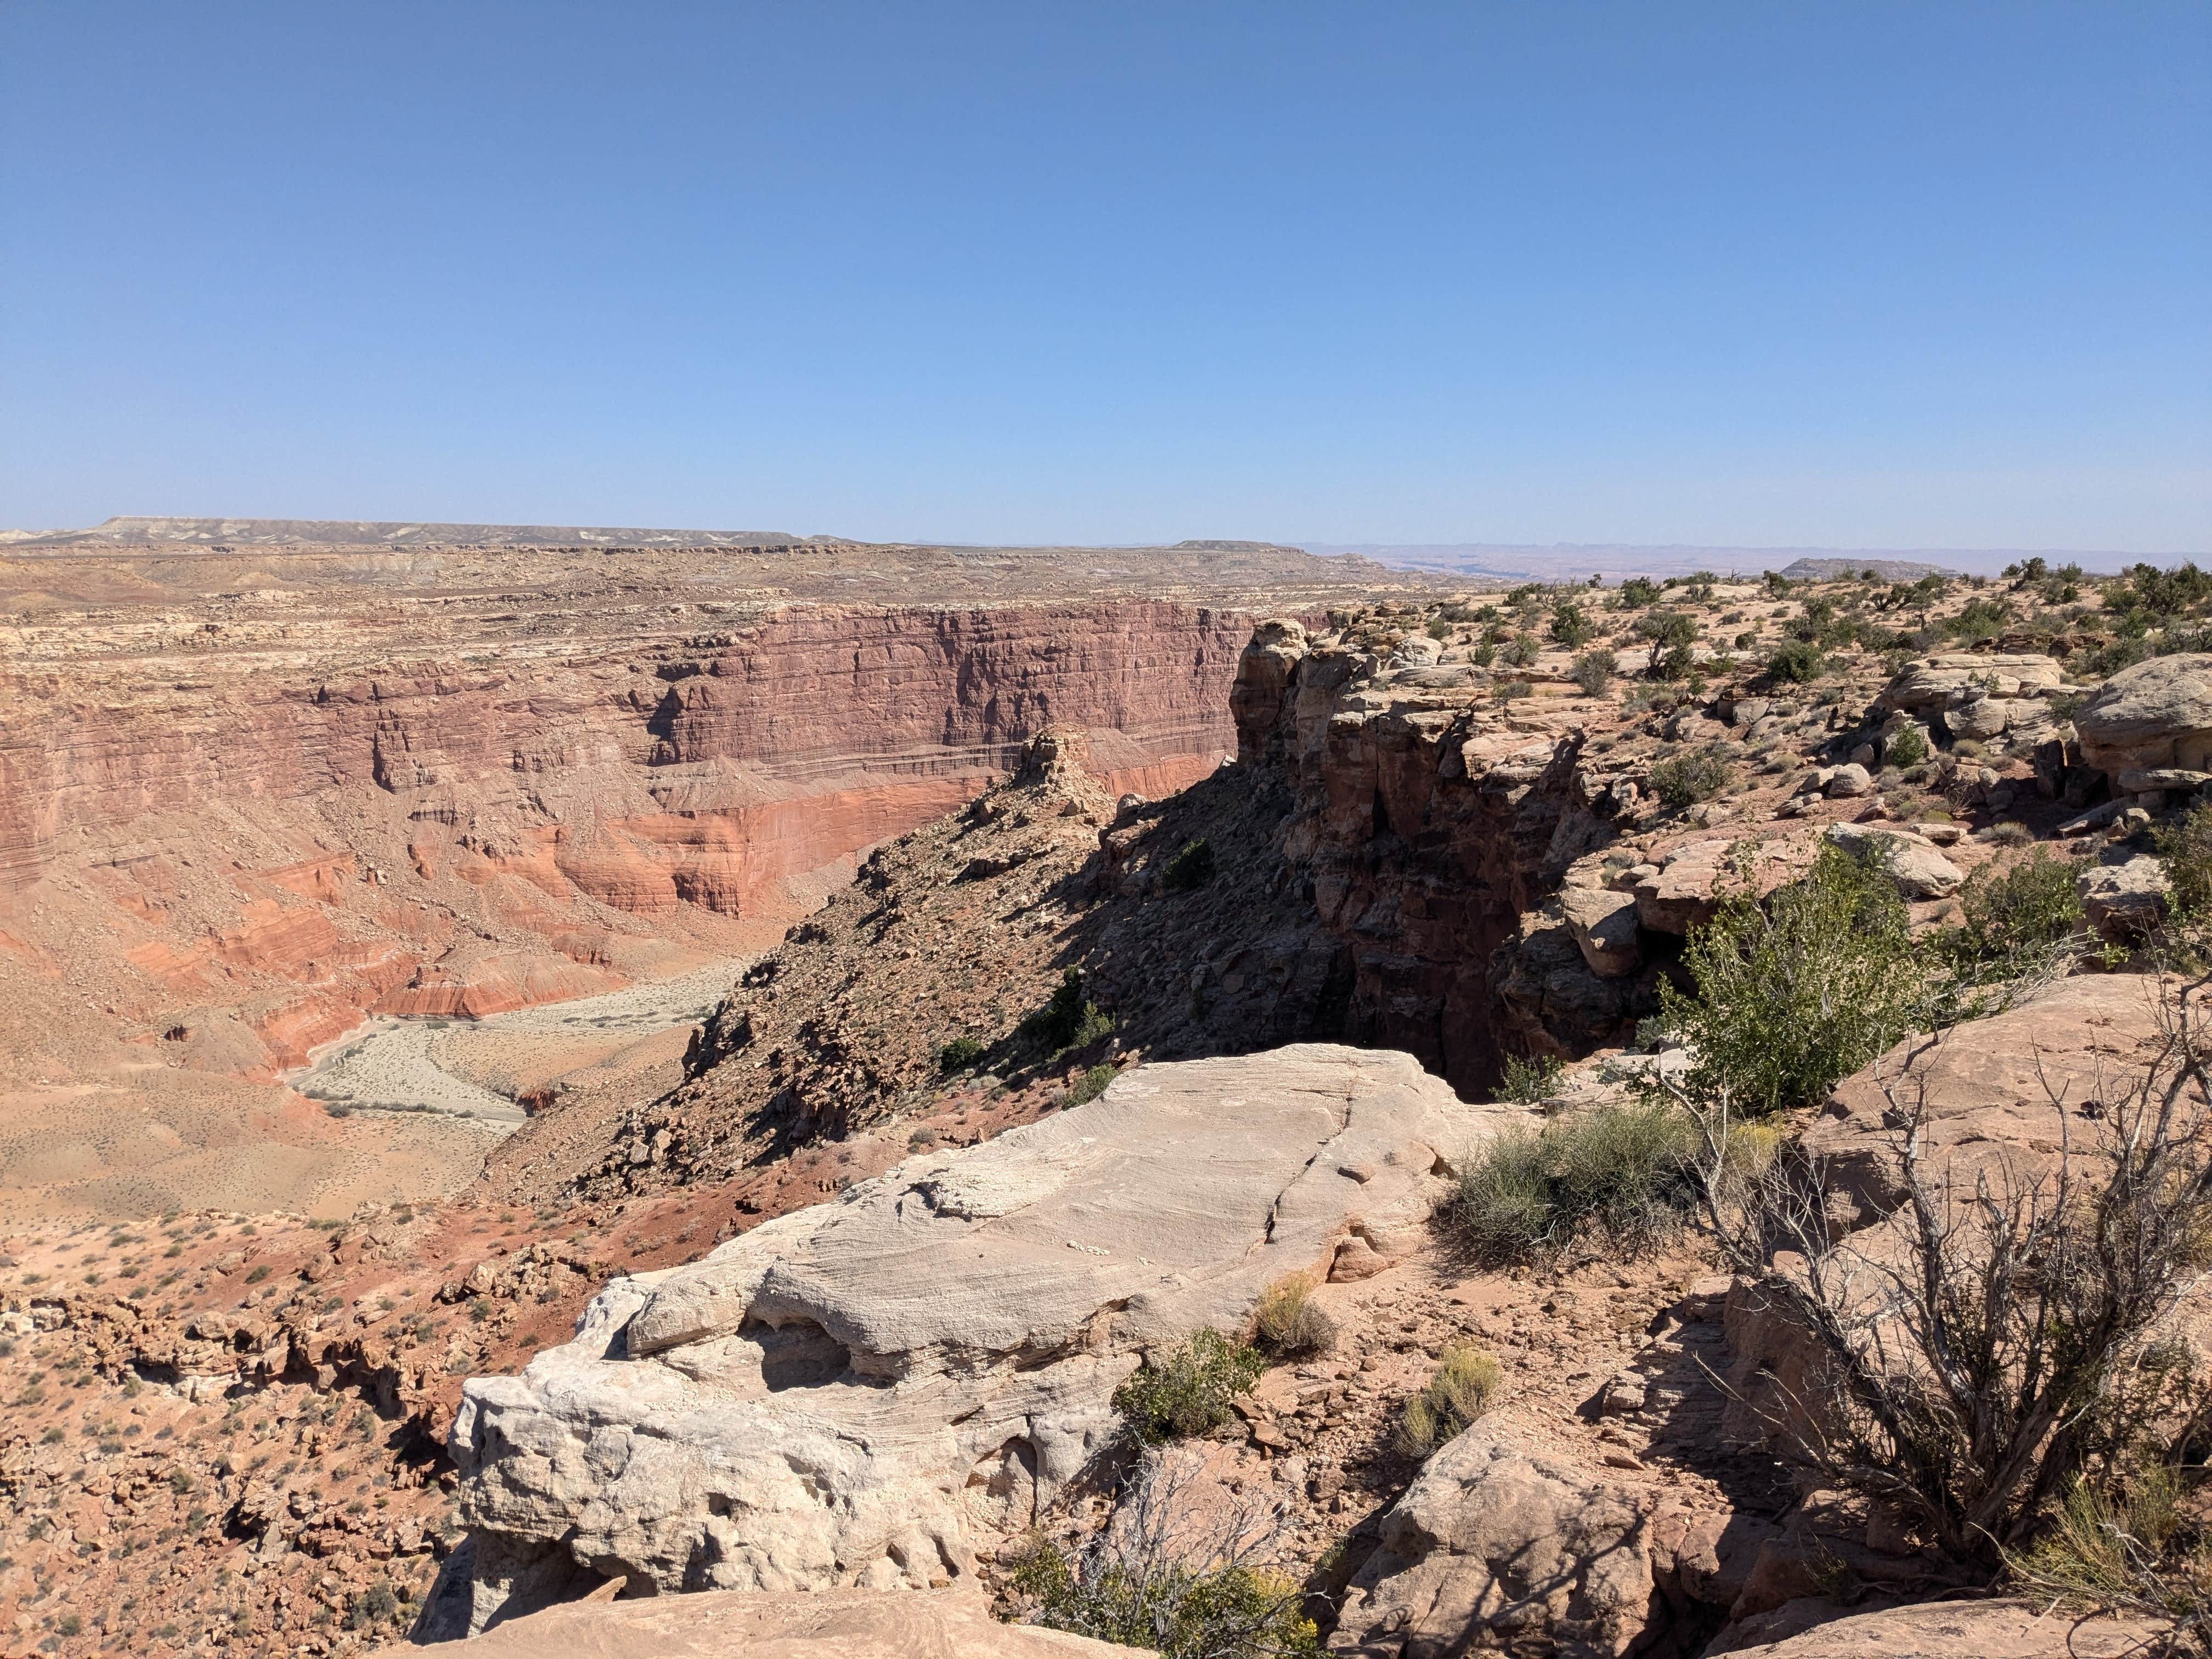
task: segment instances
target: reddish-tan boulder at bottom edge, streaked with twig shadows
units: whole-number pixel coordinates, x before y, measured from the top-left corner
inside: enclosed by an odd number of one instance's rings
[[[1650,1619],[1644,1509],[1484,1420],[1429,1458],[1383,1517],[1329,1650],[1621,1659]]]

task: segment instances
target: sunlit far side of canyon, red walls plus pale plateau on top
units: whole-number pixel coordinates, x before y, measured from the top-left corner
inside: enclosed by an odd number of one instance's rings
[[[372,1015],[743,960],[1053,723],[1172,792],[1234,748],[1252,613],[1398,586],[1265,544],[529,535],[4,549],[0,1219],[458,1190],[482,1121],[341,1121],[285,1077]],[[611,1042],[531,1086],[611,1082]]]

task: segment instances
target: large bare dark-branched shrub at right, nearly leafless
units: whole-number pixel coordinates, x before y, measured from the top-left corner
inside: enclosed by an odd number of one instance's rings
[[[2163,1327],[2212,1241],[2212,1044],[2203,980],[2161,993],[2157,1037],[2093,1102],[2046,1084],[2044,1170],[1947,1172],[1924,1141],[1922,1064],[1960,1037],[1922,1037],[1882,1079],[1900,1208],[1840,1232],[1825,1172],[1776,1159],[1721,1175],[1734,1102],[1692,1095],[1701,1219],[1759,1281],[1774,1316],[1814,1343],[1770,1429],[1827,1484],[1889,1504],[1947,1555],[2000,1566],[2046,1531],[2075,1482],[2124,1489],[2146,1425],[2203,1433],[2203,1387]],[[2095,1110],[2088,1106],[2095,1104]],[[2077,1511],[2079,1520],[2079,1511]],[[2064,1511],[2055,1533],[2064,1540]]]

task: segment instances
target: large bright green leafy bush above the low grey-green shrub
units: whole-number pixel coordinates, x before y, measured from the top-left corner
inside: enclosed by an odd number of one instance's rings
[[[1694,991],[1659,1011],[1697,1053],[1694,1097],[1739,1113],[1812,1106],[1922,1022],[1940,975],[1911,940],[1885,860],[1823,845],[1765,905],[1736,896],[1690,931]]]

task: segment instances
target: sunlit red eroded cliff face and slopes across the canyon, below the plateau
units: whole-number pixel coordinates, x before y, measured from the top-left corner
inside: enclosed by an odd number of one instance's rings
[[[763,949],[1046,723],[1084,732],[1110,787],[1175,790],[1234,741],[1250,633],[1155,599],[783,606],[599,639],[489,611],[429,641],[449,657],[363,664],[265,608],[232,606],[210,646],[122,639],[97,672],[0,690],[0,995],[24,1015],[0,1186],[199,1155],[208,1113],[319,1115],[274,1084],[365,1013],[484,1015]],[[115,1144],[82,1095],[115,1082],[181,1088],[195,1124]],[[88,1115],[60,1159],[29,1133],[53,1088]]]

